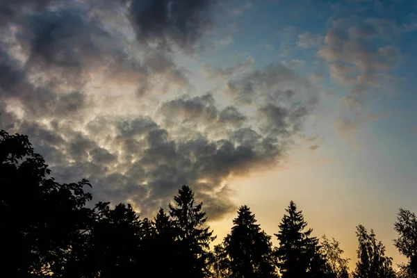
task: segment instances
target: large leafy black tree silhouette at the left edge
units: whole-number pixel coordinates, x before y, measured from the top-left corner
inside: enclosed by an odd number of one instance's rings
[[[0,131],[2,265],[13,277],[60,277],[83,240],[90,183],[60,184],[27,136]]]

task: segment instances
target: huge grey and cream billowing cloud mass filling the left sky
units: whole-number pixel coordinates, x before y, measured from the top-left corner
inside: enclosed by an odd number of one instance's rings
[[[193,90],[178,57],[199,50],[216,3],[2,1],[1,127],[30,136],[57,181],[89,179],[95,201],[150,216],[188,184],[212,220],[234,211],[228,181],[281,161],[316,90],[251,57]]]

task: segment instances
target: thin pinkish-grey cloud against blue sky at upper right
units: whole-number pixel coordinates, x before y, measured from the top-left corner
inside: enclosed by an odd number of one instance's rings
[[[339,134],[352,134],[368,122],[366,95],[393,88],[395,78],[389,72],[401,60],[394,44],[400,33],[398,25],[388,19],[344,18],[332,22],[318,56],[329,63],[330,77],[350,88],[336,120]]]

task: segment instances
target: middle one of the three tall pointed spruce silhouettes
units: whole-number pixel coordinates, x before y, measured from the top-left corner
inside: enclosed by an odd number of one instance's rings
[[[250,208],[240,206],[238,217],[233,223],[231,233],[223,241],[224,251],[221,247],[216,250],[218,255],[227,256],[219,262],[223,263],[225,268],[229,268],[230,277],[277,277],[271,237],[256,224],[255,215]]]

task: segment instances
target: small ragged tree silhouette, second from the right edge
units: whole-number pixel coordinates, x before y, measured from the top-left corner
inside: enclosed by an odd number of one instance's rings
[[[357,250],[358,261],[353,272],[354,278],[394,278],[392,259],[385,256],[385,247],[382,242],[377,242],[373,229],[370,234],[365,227],[357,227],[359,247]]]

